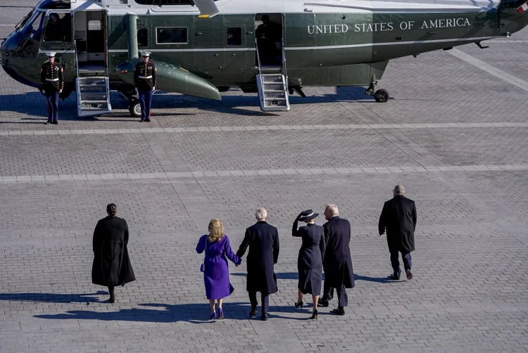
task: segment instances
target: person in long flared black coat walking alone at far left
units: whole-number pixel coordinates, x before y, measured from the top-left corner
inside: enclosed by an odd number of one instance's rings
[[[113,203],[106,206],[108,217],[97,222],[93,240],[92,283],[108,287],[111,303],[115,302],[116,285],[136,280],[127,251],[127,221],[115,217],[117,212],[118,207]]]

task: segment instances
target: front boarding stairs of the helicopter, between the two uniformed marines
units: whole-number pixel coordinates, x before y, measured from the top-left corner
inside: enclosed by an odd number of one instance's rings
[[[106,68],[77,68],[75,86],[77,116],[94,117],[112,113],[110,85]]]

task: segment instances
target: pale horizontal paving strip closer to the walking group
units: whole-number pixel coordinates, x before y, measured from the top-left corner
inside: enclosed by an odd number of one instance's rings
[[[208,170],[197,172],[158,172],[158,173],[116,173],[116,174],[60,174],[60,175],[15,175],[0,177],[3,183],[23,183],[36,181],[94,181],[115,179],[182,179],[182,178],[222,178],[256,177],[284,175],[322,174],[395,174],[395,173],[436,173],[451,172],[525,172],[528,165],[441,165],[441,166],[390,166],[390,167],[329,167],[329,168],[287,168],[287,169],[244,169]]]

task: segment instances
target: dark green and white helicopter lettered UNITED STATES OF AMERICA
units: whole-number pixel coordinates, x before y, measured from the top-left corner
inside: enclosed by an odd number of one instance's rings
[[[46,52],[64,69],[61,98],[77,115],[111,113],[110,91],[141,115],[139,51],[157,89],[215,100],[238,87],[263,111],[289,110],[306,86],[375,90],[389,60],[509,37],[528,24],[526,0],[41,0],[0,45],[13,79],[39,86]]]

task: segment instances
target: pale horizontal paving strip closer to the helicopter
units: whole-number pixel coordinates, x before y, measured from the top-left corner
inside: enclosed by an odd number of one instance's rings
[[[528,82],[527,82],[528,91]],[[227,126],[227,127],[165,127],[146,129],[68,129],[68,130],[4,130],[0,136],[42,136],[42,135],[78,135],[78,134],[180,134],[200,132],[233,131],[303,131],[303,130],[350,130],[350,129],[465,129],[465,128],[508,128],[528,127],[526,122],[484,122],[484,123],[445,123],[445,124],[348,124],[348,125],[272,125],[272,126]]]

